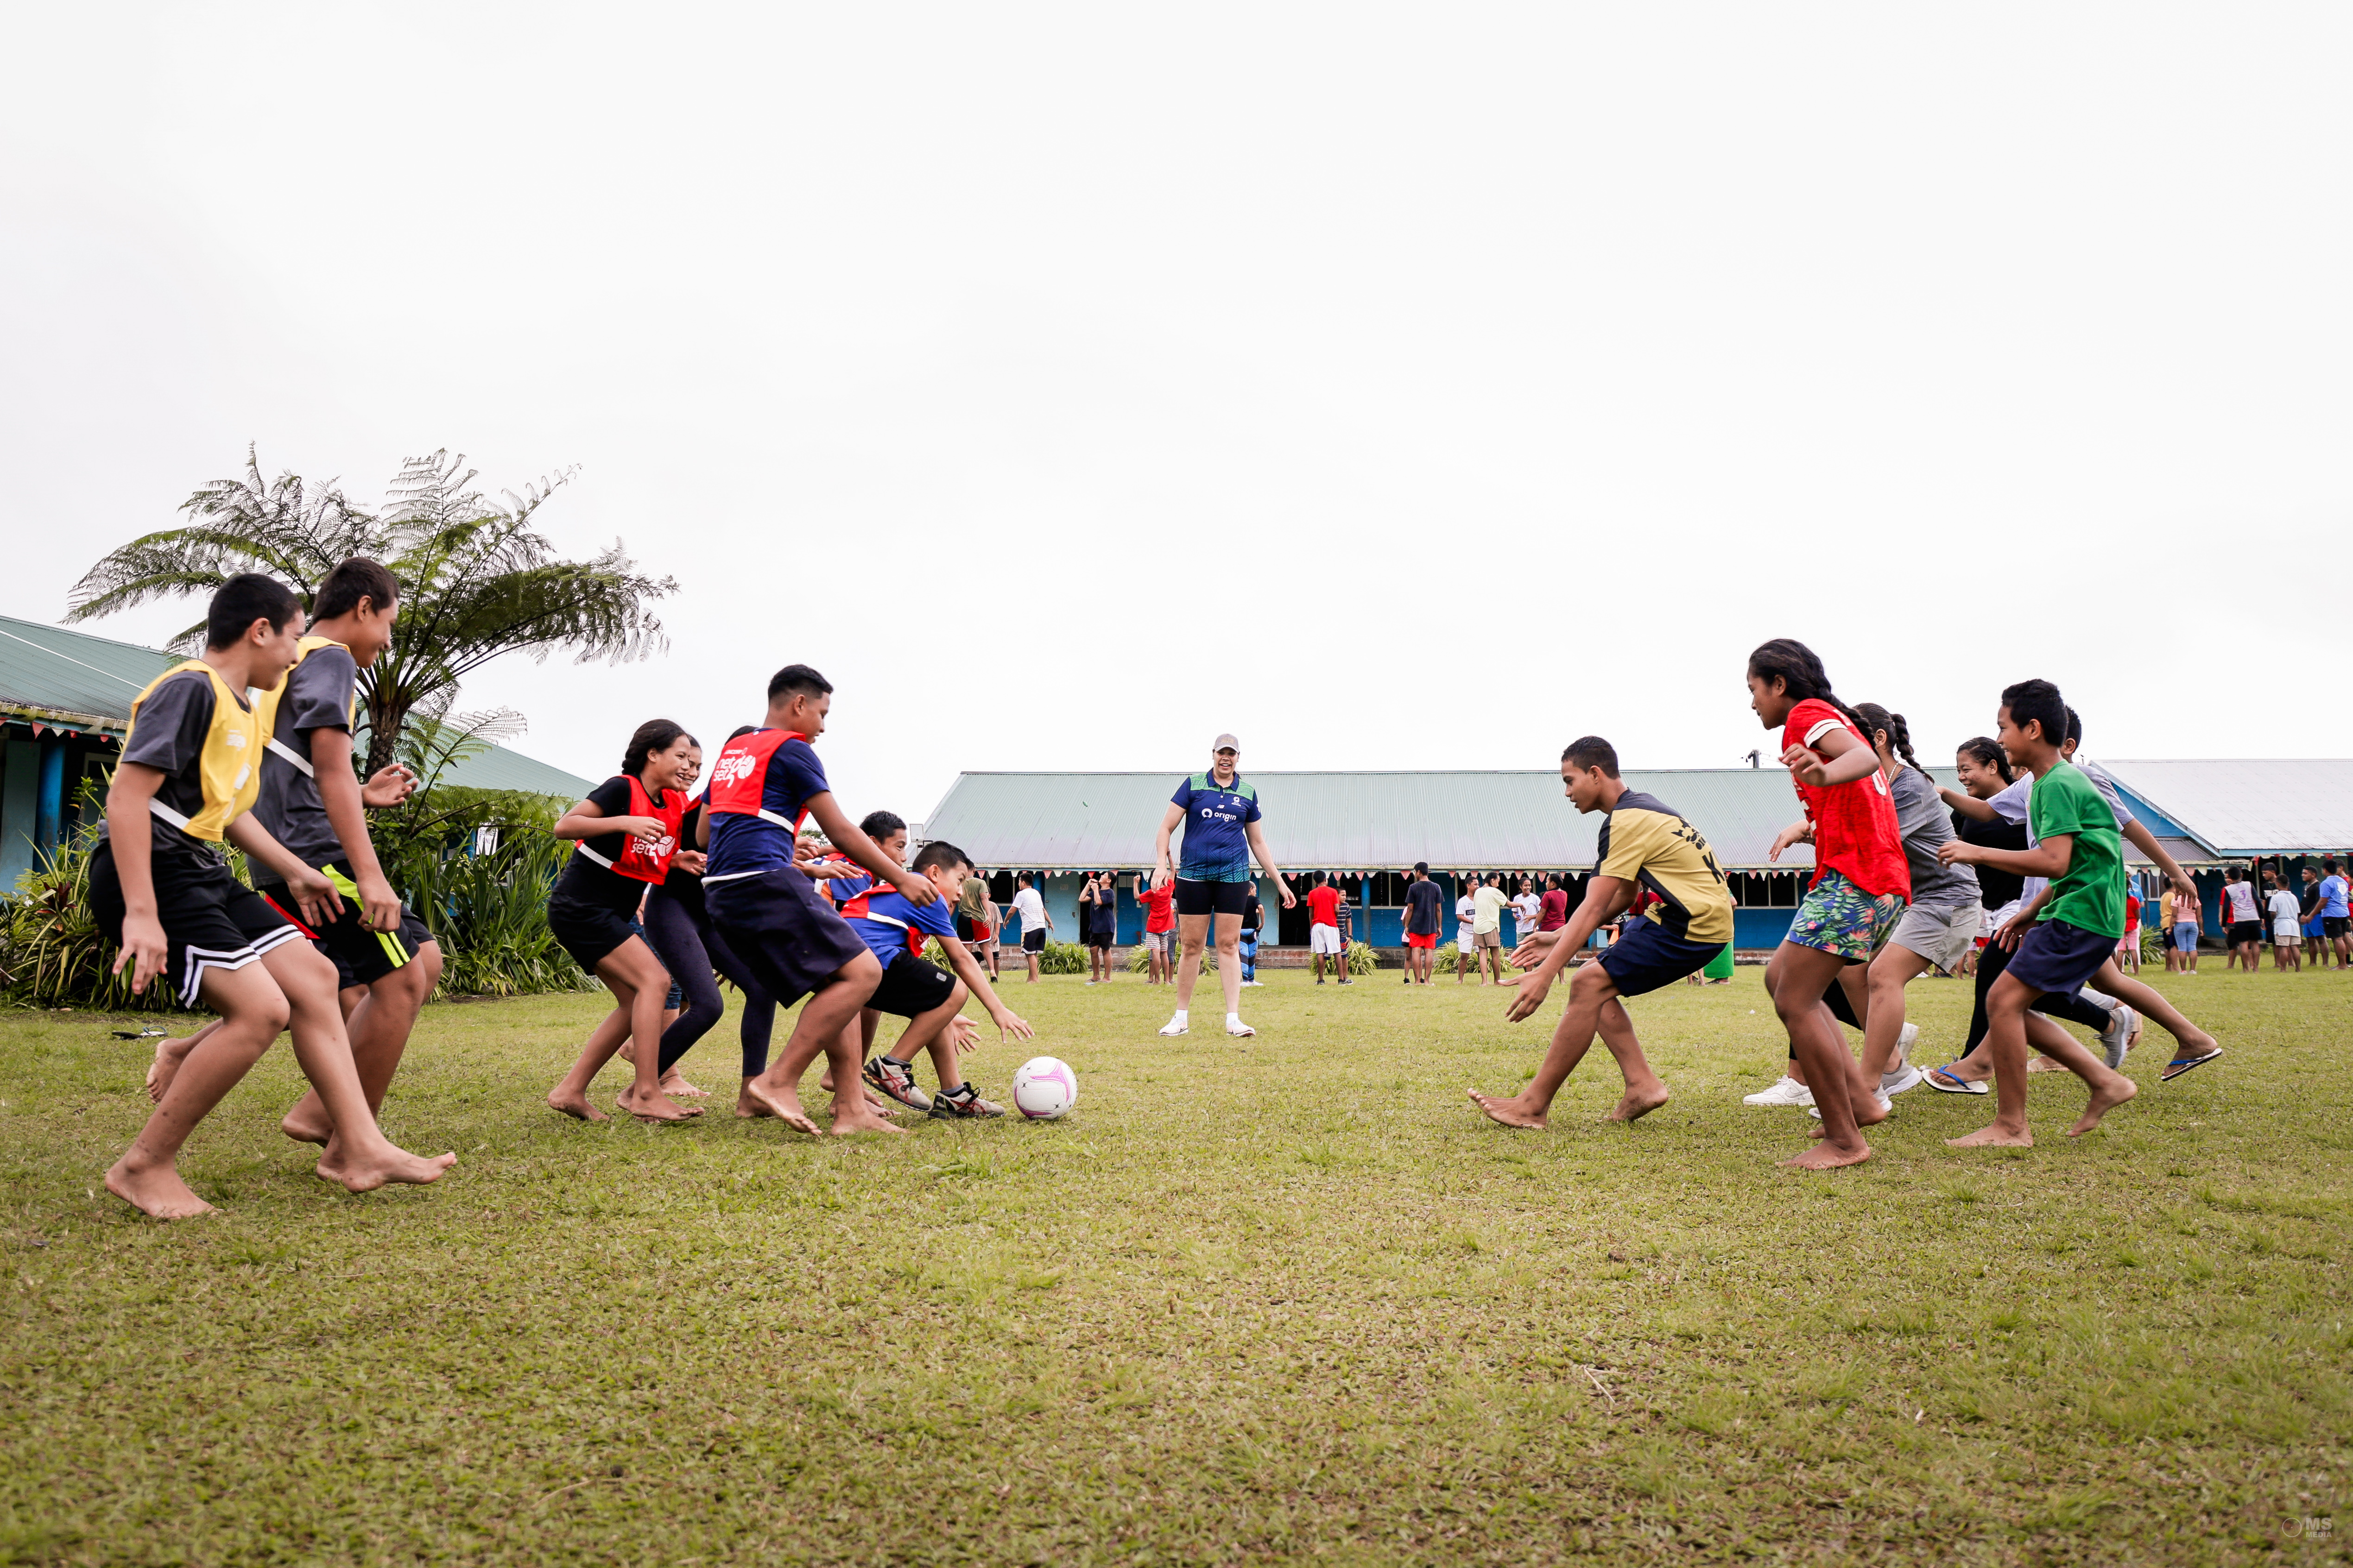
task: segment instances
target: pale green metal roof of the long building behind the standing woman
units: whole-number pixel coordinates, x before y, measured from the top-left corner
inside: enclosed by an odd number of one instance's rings
[[[1932,769],[1953,783],[1951,769]],[[981,865],[1087,870],[1151,865],[1153,835],[1184,773],[960,773],[925,823]],[[1245,773],[1285,867],[1377,870],[1428,860],[1452,870],[1593,865],[1600,816],[1579,816],[1560,773]],[[1781,769],[1628,769],[1706,835],[1720,865],[1762,867],[1798,818]],[[1784,867],[1814,863],[1809,846]]]

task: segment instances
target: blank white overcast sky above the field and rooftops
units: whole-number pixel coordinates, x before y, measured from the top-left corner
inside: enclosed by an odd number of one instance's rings
[[[591,778],[1635,766],[1802,637],[1922,759],[2353,755],[2353,9],[9,7],[0,611],[449,447],[680,592]],[[160,639],[191,607],[99,623]],[[1271,811],[1275,802],[1271,802]],[[1280,820],[1280,818],[1275,818]],[[1280,839],[1275,842],[1280,851]]]

